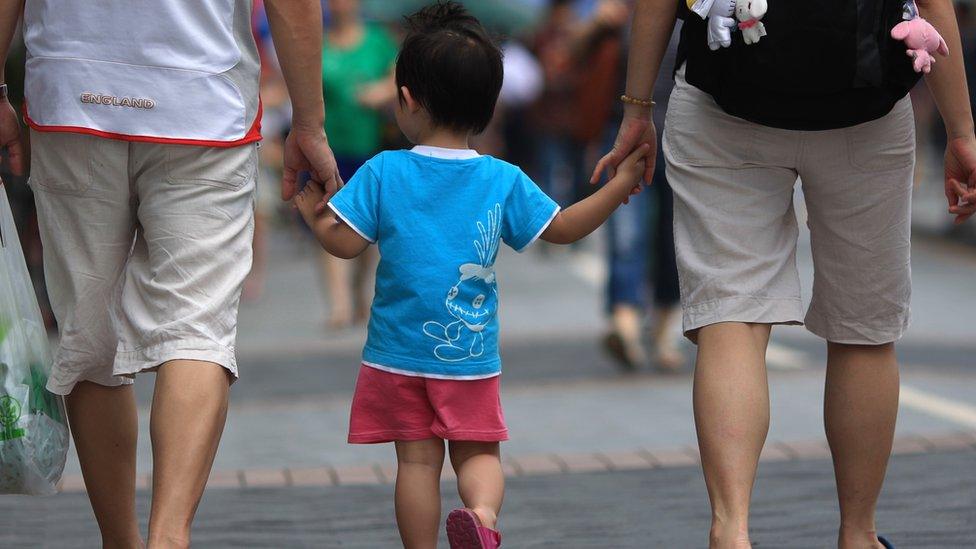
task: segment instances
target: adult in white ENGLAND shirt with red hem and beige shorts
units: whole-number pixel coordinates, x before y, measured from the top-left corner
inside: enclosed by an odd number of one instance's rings
[[[150,547],[189,545],[224,426],[260,139],[253,2],[0,5],[0,61],[21,17],[28,50],[30,181],[61,336],[48,388],[66,396],[105,547],[143,544],[132,378],[157,374]],[[282,197],[301,171],[334,191],[319,0],[264,3],[294,107]],[[0,146],[21,173],[2,91]]]

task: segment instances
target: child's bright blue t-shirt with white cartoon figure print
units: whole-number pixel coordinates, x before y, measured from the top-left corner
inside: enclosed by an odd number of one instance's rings
[[[388,151],[329,206],[379,246],[364,363],[446,379],[501,372],[499,243],[524,250],[559,212],[522,170],[474,151]]]

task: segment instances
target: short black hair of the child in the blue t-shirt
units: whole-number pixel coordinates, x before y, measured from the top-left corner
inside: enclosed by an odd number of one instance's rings
[[[406,19],[397,89],[406,86],[437,126],[485,131],[504,78],[501,50],[457,2],[437,2]]]

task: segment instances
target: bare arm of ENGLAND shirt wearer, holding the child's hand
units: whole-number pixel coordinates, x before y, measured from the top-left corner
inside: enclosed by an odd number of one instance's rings
[[[319,0],[265,0],[278,63],[292,103],[281,197],[291,200],[308,171],[331,195],[341,185],[325,135],[322,96],[322,6]]]

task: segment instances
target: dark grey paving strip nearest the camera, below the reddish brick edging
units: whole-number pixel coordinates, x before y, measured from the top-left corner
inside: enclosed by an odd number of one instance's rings
[[[878,509],[881,532],[899,548],[976,546],[974,472],[971,445],[896,455]],[[323,476],[329,477],[327,470],[303,474],[323,484]],[[458,501],[450,484],[443,492],[446,512]],[[835,546],[834,498],[829,460],[763,463],[753,504],[754,542],[773,548]],[[139,507],[145,517],[145,492]],[[693,465],[515,477],[502,515],[505,546],[518,548],[704,547],[709,519],[701,472]],[[98,545],[81,493],[3,497],[0,516],[0,547]],[[194,542],[203,548],[395,548],[392,488],[213,488],[197,516]]]

